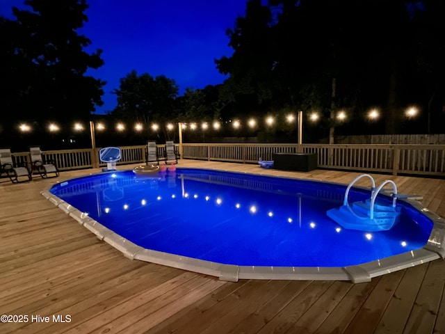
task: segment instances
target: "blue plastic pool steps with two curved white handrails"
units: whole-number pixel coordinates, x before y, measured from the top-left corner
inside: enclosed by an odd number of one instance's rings
[[[369,177],[372,182],[371,198],[364,201],[353,202],[352,205],[348,202],[348,194],[355,182],[362,177]],[[382,190],[385,184],[391,184],[393,187],[392,205],[385,205],[377,202],[378,193]],[[396,207],[397,200],[397,186],[391,180],[385,180],[377,189],[375,189],[375,181],[369,174],[362,174],[350,182],[345,192],[345,199],[343,205],[339,208],[330,209],[326,212],[327,216],[332,218],[336,223],[343,228],[349,230],[360,231],[386,231],[398,223],[401,215],[401,208]]]

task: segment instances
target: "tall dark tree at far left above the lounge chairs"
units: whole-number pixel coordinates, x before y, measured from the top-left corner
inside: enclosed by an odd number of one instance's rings
[[[86,0],[26,0],[32,11],[13,8],[17,19],[0,20],[3,106],[11,119],[88,118],[103,104],[104,81],[87,76],[104,64],[101,50],[77,30],[88,21]],[[18,116],[18,117],[17,117]]]

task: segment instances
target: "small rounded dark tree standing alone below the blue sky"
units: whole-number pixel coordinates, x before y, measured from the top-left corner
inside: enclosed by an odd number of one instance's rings
[[[141,122],[145,128],[154,121],[175,118],[175,98],[178,94],[175,80],[164,75],[153,78],[150,74],[138,75],[136,70],[120,79],[119,89],[113,90],[118,106],[112,111],[115,118]]]

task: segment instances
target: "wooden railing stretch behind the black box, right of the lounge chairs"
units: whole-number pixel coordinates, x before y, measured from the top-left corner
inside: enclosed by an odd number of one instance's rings
[[[445,145],[303,144],[316,153],[318,167],[411,175],[445,176]],[[296,153],[297,144],[184,144],[184,158],[257,163],[278,152]]]

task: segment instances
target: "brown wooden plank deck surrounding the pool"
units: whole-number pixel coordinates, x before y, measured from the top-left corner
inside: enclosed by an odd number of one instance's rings
[[[207,161],[180,161],[179,166],[345,184],[358,175]],[[23,184],[0,179],[0,314],[24,321],[0,323],[0,333],[445,333],[442,260],[356,285],[229,283],[129,260],[40,195],[52,182],[94,171]],[[428,209],[445,217],[445,180],[373,176],[378,184],[391,179],[399,192],[423,196]],[[20,317],[25,315],[27,321]]]

